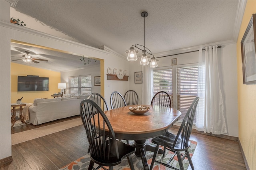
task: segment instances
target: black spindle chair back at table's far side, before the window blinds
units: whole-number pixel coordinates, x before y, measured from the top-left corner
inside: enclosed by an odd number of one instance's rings
[[[160,105],[165,107],[171,107],[172,101],[168,93],[165,91],[159,91],[152,98],[150,105]]]

